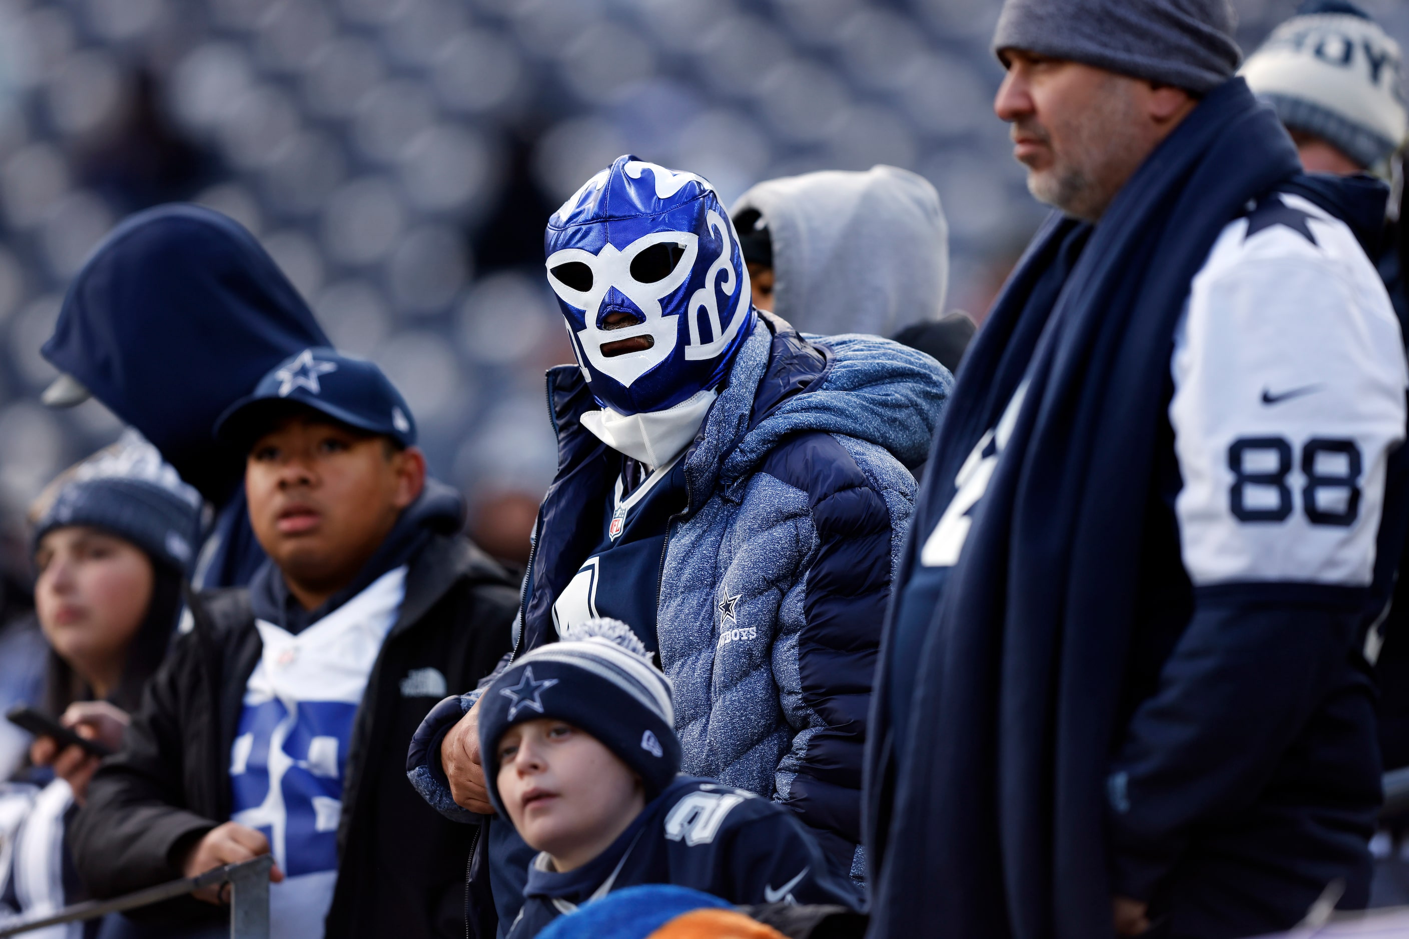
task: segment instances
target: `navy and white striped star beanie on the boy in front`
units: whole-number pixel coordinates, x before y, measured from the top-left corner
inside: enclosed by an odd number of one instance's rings
[[[671,681],[620,619],[589,619],[534,649],[479,700],[479,752],[489,801],[499,798],[499,739],[514,724],[558,718],[586,731],[641,777],[647,801],[681,771]]]

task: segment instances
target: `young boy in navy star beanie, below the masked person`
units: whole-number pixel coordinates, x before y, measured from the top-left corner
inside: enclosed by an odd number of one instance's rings
[[[479,718],[489,800],[538,855],[509,939],[613,890],[859,908],[792,812],[678,776],[671,686],[630,626],[592,619],[506,667]]]

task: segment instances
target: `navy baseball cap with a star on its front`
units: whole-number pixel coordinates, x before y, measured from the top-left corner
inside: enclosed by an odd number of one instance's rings
[[[254,394],[225,408],[216,421],[216,436],[248,449],[290,401],[402,446],[416,443],[411,408],[382,369],[327,346],[304,349],[275,366]]]

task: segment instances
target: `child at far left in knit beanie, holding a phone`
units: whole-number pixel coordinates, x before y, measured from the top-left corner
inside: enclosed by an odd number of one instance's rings
[[[35,614],[49,646],[45,700],[32,702],[34,711],[107,750],[121,749],[127,715],[176,626],[199,505],[194,490],[137,438],[51,483],[34,512]],[[8,802],[0,817],[20,819],[0,832],[14,845],[0,869],[0,918],[85,898],[65,856],[65,831],[100,757],[56,736],[37,736],[30,766],[0,788]]]

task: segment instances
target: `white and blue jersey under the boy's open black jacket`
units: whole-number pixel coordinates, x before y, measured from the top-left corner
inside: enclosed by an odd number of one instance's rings
[[[402,566],[297,635],[255,621],[263,650],[230,755],[231,819],[263,832],[285,873],[269,894],[276,938],[323,935],[352,722],[404,594]]]

